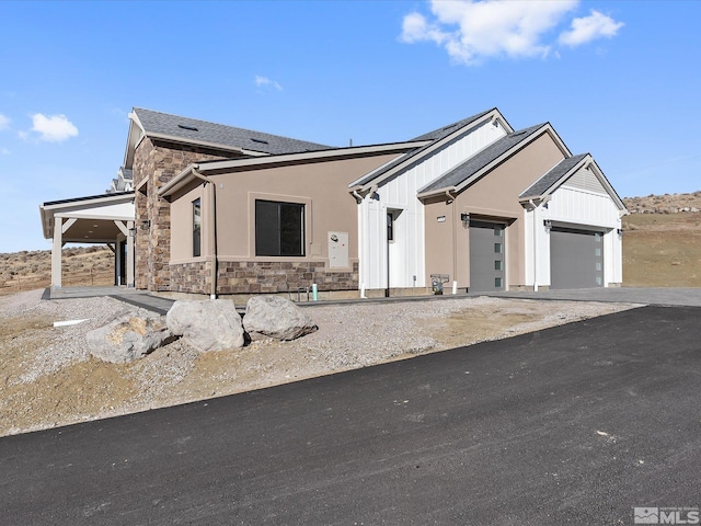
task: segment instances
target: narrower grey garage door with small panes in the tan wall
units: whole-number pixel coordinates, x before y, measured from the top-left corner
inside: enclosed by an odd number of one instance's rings
[[[506,225],[470,221],[470,291],[504,290],[506,286]]]

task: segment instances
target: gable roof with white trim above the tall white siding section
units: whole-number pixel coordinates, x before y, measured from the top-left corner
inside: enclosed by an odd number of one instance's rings
[[[389,179],[395,173],[411,168],[421,159],[430,155],[441,146],[459,138],[464,133],[466,128],[489,118],[499,121],[507,132],[513,132],[513,128],[506,122],[499,111],[496,107],[493,107],[485,112],[478,113],[476,115],[472,115],[471,117],[458,121],[457,123],[449,124],[448,126],[444,126],[441,128],[437,128],[433,132],[428,132],[427,134],[415,137],[411,140],[411,142],[416,142],[416,149],[409,151],[405,156],[395,159],[384,167],[380,167],[379,169],[365,174],[363,178],[352,182],[348,187],[367,190],[369,184],[378,184],[379,182]]]

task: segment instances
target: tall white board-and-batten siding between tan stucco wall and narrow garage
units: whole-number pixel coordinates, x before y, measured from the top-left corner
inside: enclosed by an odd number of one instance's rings
[[[377,188],[377,195],[363,199],[358,205],[361,285],[368,289],[388,287],[387,213],[401,210],[390,252],[391,287],[427,286],[424,206],[416,197],[417,191],[505,135],[502,126],[480,123],[457,140],[383,181]]]

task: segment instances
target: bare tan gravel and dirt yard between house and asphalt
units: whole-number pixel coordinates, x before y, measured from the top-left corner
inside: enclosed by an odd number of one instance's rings
[[[176,341],[117,365],[91,357],[85,333],[139,309],[106,297],[43,301],[42,291],[0,297],[0,435],[268,387],[634,307],[487,297],[314,306],[306,312],[319,331],[294,342],[199,354]]]

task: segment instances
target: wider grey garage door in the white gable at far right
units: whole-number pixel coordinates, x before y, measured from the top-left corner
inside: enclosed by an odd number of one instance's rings
[[[604,235],[594,230],[550,230],[550,288],[604,286]]]

